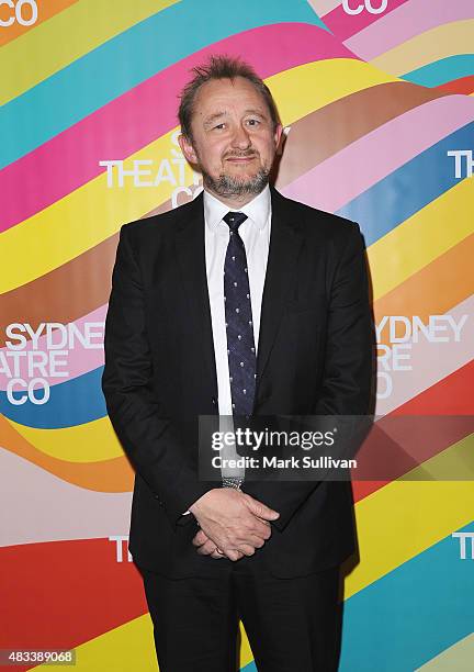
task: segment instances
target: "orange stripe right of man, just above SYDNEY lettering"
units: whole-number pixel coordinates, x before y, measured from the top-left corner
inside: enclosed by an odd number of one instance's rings
[[[379,299],[373,306],[375,324],[384,315],[419,315],[428,320],[430,315],[447,313],[474,290],[473,258],[474,234],[471,234]]]

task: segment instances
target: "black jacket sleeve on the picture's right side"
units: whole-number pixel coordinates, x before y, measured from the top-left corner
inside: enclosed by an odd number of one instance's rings
[[[324,376],[313,415],[364,415],[372,384],[372,318],[362,236],[348,226],[329,289]],[[249,481],[244,490],[280,513],[283,530],[320,481]]]

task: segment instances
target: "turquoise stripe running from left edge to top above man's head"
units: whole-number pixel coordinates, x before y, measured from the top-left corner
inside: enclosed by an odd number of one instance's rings
[[[0,168],[210,44],[282,22],[327,30],[306,0],[240,0],[238,11],[222,0],[183,0],[158,12],[3,105]]]

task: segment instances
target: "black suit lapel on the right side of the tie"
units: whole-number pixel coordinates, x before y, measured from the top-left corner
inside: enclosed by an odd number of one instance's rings
[[[270,249],[263,287],[257,381],[261,380],[278,334],[285,303],[296,281],[296,259],[303,236],[292,221],[286,200],[273,188]],[[258,391],[257,391],[258,395]]]

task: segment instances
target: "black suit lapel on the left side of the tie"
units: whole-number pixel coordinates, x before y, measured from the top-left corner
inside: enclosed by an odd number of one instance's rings
[[[217,396],[217,376],[212,334],[211,306],[204,244],[204,208],[202,192],[189,204],[177,224],[176,254],[188,303],[187,321],[200,341],[203,376],[211,394]]]

